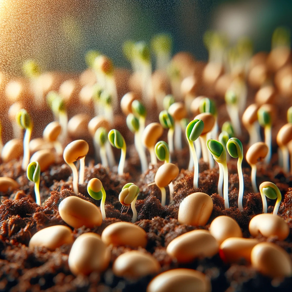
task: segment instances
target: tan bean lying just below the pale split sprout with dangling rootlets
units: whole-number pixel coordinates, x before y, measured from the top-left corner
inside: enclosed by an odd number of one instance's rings
[[[105,227],[101,239],[107,245],[123,245],[132,248],[145,247],[147,244],[147,234],[144,229],[129,222],[115,222]]]

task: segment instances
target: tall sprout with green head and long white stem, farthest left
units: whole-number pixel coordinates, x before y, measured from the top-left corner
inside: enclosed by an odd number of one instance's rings
[[[25,135],[23,137],[23,160],[22,160],[22,169],[26,170],[29,164],[29,140],[32,134],[32,121],[29,114],[25,109],[20,109],[16,116],[16,122],[18,125],[25,129]]]

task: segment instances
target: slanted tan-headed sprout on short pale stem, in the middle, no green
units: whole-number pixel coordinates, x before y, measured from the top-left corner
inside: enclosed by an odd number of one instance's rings
[[[142,133],[142,142],[150,152],[152,164],[157,164],[154,146],[163,133],[163,128],[159,123],[151,123],[147,125]]]

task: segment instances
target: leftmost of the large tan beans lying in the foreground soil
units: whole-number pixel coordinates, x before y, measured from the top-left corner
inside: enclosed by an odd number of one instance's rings
[[[36,232],[29,241],[29,247],[44,246],[54,251],[57,247],[72,242],[72,230],[64,225],[55,225]]]

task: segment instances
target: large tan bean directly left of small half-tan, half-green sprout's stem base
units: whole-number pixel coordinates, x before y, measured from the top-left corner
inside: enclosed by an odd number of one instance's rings
[[[91,202],[75,196],[67,197],[60,203],[59,213],[62,220],[74,228],[83,225],[91,228],[100,226],[102,223],[99,208]]]

